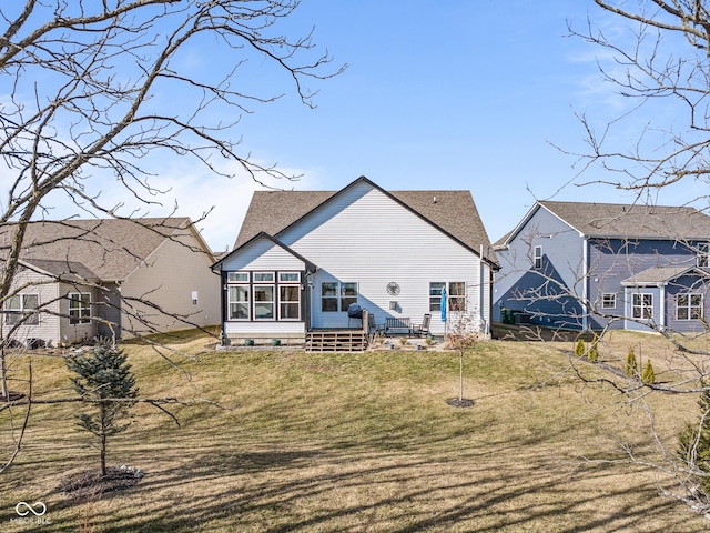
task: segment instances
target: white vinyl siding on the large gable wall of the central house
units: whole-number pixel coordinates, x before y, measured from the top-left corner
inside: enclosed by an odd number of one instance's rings
[[[429,313],[429,282],[465,282],[469,310],[480,311],[478,255],[366,183],[332,199],[278,239],[318,268],[310,288],[312,328],[348,325],[345,311],[322,311],[325,281],[356,282],[358,303],[377,323],[386,316],[420,323]],[[399,285],[398,295],[387,292],[388,283]],[[432,315],[432,331],[444,333],[438,314]]]

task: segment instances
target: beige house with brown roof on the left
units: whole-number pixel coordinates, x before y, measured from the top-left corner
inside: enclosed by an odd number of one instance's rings
[[[4,251],[13,229],[0,229]],[[32,222],[0,336],[58,344],[215,325],[213,262],[187,218]]]

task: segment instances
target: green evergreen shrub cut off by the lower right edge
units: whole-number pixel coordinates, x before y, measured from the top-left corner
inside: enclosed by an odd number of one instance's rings
[[[707,383],[701,383],[703,388]],[[690,472],[698,472],[696,481],[706,496],[710,496],[710,389],[698,401],[700,420],[696,424],[687,423],[678,441],[678,455],[688,465]]]

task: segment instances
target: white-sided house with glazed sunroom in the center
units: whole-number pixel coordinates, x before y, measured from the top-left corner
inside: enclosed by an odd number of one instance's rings
[[[303,342],[355,326],[349,304],[443,334],[448,319],[490,325],[490,243],[468,191],[385,191],[359,178],[341,191],[255,192],[222,276],[222,326],[244,338]]]

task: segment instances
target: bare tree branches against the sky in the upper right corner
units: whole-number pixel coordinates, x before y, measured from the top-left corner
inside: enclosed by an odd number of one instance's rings
[[[598,47],[605,82],[626,100],[620,115],[599,122],[580,114],[588,164],[607,171],[600,182],[655,199],[681,180],[710,179],[710,14],[707,2],[595,0],[619,31],[591,19],[570,33]],[[682,119],[679,121],[679,118]],[[598,118],[597,118],[598,119]],[[690,187],[690,183],[687,184]],[[703,205],[707,208],[707,197]],[[689,198],[690,203],[697,198]]]

